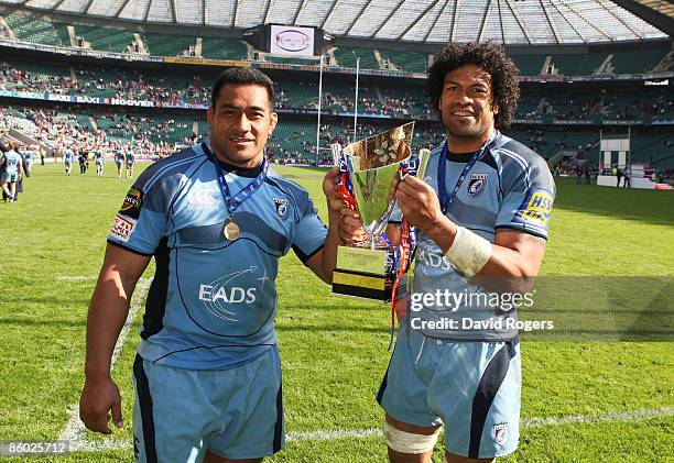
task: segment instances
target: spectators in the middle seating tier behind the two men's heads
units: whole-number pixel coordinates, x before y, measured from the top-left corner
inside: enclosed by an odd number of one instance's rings
[[[75,78],[73,78],[75,76]],[[19,91],[48,91],[58,95],[108,97],[130,100],[148,100],[163,104],[208,104],[211,76],[192,74],[127,70],[122,68],[73,68],[53,67],[36,74],[21,69],[19,63],[0,63],[0,89]],[[514,119],[540,119],[552,115],[558,120],[590,120],[593,118],[634,120],[674,119],[674,98],[667,88],[652,89],[643,93],[635,91],[611,91],[586,89],[568,91],[523,90],[520,109]],[[337,90],[336,90],[337,89]],[[324,82],[324,108],[352,111],[355,88],[341,82]],[[318,88],[315,82],[276,82],[279,108],[317,108]],[[359,88],[358,111],[383,115],[425,115],[435,111],[428,106],[421,86],[410,88],[373,87],[362,84]]]

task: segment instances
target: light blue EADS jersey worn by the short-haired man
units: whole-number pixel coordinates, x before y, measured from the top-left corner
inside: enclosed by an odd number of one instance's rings
[[[305,189],[271,168],[233,212],[241,236],[224,236],[229,212],[208,145],[156,162],[127,195],[108,242],[154,255],[140,355],[191,370],[227,370],[276,343],[279,257],[306,262],[327,230]],[[251,177],[226,170],[232,195]]]

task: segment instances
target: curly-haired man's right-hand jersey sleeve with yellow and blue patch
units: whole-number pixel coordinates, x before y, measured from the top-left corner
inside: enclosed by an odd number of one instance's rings
[[[496,229],[512,229],[547,239],[555,184],[545,162],[536,158],[507,185]]]

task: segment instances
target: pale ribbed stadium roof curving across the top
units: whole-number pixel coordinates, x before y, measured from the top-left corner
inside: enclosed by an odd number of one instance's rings
[[[311,25],[336,36],[423,43],[583,44],[665,38],[674,29],[668,0],[0,0],[0,4],[193,26]]]

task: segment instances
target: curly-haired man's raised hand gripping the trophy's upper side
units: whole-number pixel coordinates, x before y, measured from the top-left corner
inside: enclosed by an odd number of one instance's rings
[[[398,184],[395,199],[410,224],[422,231],[435,227],[444,217],[435,190],[411,175]]]

